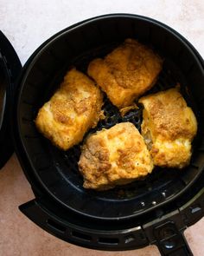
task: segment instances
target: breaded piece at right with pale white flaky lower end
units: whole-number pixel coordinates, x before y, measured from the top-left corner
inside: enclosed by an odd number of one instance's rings
[[[139,102],[144,107],[142,135],[154,164],[176,168],[188,166],[197,121],[179,89],[147,95]]]

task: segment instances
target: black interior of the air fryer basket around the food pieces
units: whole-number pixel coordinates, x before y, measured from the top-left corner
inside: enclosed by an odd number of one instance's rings
[[[105,192],[86,190],[77,162],[80,145],[67,152],[55,148],[35,128],[35,116],[60,85],[67,69],[75,66],[86,73],[88,63],[105,56],[125,38],[136,38],[155,49],[164,58],[163,71],[149,93],[181,84],[182,95],[193,108],[199,130],[193,143],[193,156],[182,170],[155,167],[143,181],[116,187]],[[38,50],[30,60],[18,100],[19,133],[29,162],[41,185],[64,207],[78,213],[102,219],[119,220],[150,211],[182,194],[201,174],[203,162],[203,69],[191,49],[181,38],[162,25],[142,18],[106,18],[81,24],[65,31]],[[202,107],[201,107],[202,106]],[[142,107],[124,117],[105,96],[105,120],[97,128],[110,128],[118,122],[131,121],[140,130]],[[201,118],[202,117],[202,118]],[[85,136],[86,139],[86,136]]]

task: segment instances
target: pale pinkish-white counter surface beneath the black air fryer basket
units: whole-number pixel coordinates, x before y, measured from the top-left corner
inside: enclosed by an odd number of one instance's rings
[[[22,64],[49,36],[91,16],[135,13],[168,24],[204,57],[204,1],[164,0],[0,0],[0,30]],[[14,154],[0,171],[0,256],[159,255],[155,246],[128,252],[99,252],[70,245],[35,226],[18,206],[34,195]],[[195,256],[204,255],[204,219],[185,232]]]

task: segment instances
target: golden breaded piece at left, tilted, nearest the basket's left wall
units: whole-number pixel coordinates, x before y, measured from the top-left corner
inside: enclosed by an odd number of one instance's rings
[[[35,125],[55,146],[67,150],[97,125],[102,104],[103,95],[94,82],[71,69],[61,88],[39,110]]]

